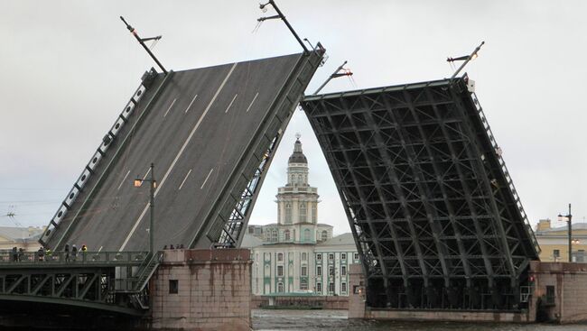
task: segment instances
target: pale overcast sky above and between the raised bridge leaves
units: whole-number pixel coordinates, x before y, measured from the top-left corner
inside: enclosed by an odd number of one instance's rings
[[[573,203],[587,216],[587,2],[278,0],[293,27],[321,41],[329,60],[307,93],[349,60],[347,78],[324,92],[446,78],[447,56],[469,54],[489,124],[527,215],[556,218]],[[269,11],[265,15],[274,14]],[[191,69],[300,51],[256,1],[0,0],[0,225],[47,225],[74,180],[154,66],[126,31],[163,34],[154,53],[167,69]],[[294,134],[302,134],[319,221],[349,231],[320,147],[296,111],[251,224],[276,220]],[[556,224],[555,224],[556,225]],[[563,224],[560,224],[563,225]]]

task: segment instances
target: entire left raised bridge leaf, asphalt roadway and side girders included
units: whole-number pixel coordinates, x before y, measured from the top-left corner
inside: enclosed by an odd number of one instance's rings
[[[238,246],[256,191],[324,50],[144,74],[51,218],[41,243],[90,250]],[[154,163],[154,174],[150,165]]]

